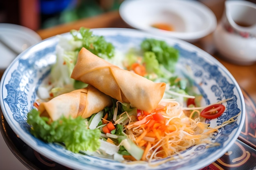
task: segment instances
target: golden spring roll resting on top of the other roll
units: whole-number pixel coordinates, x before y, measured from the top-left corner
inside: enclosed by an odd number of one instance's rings
[[[90,84],[99,91],[151,112],[162,99],[165,83],[155,83],[131,71],[119,68],[85,48],[78,54],[71,78]]]

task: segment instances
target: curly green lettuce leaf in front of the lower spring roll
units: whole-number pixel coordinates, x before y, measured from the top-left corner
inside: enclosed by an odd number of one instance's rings
[[[35,137],[48,143],[64,143],[67,150],[79,152],[80,150],[95,151],[100,147],[100,130],[88,129],[88,124],[82,117],[75,119],[61,117],[50,124],[47,117],[40,117],[36,109],[27,114],[27,123],[31,126],[30,132]]]

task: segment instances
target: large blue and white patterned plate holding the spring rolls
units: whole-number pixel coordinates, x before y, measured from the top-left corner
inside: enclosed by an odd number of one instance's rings
[[[214,57],[196,46],[182,40],[163,38],[135,29],[92,29],[94,34],[105,36],[116,49],[126,52],[130,47],[139,47],[144,38],[165,40],[180,51],[178,68],[190,66],[195,86],[203,95],[203,104],[211,104],[233,97],[226,105],[225,113],[218,119],[208,120],[211,127],[222,124],[229,118],[241,114],[237,121],[221,128],[212,139],[220,146],[207,148],[206,144],[193,146],[182,152],[183,158],[177,157],[157,167],[147,164],[127,165],[109,159],[75,154],[57,144],[46,144],[29,132],[26,123],[27,113],[33,108],[37,99],[38,86],[47,79],[51,65],[56,61],[55,47],[58,38],[48,38],[21,53],[6,69],[0,83],[0,104],[9,126],[31,148],[56,161],[77,170],[196,170],[216,161],[236,141],[245,120],[245,103],[242,92],[227,69]],[[63,36],[71,37],[70,33]],[[182,73],[182,69],[180,72]]]

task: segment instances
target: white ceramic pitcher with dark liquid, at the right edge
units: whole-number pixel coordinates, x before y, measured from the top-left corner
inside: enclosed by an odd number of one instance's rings
[[[217,50],[229,62],[256,62],[256,4],[227,0],[222,20],[213,33]]]

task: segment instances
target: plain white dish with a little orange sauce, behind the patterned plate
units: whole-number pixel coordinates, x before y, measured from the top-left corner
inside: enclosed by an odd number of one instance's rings
[[[125,0],[119,13],[130,26],[143,31],[195,42],[216,29],[214,13],[195,0]],[[152,27],[155,23],[166,23],[174,31]]]

